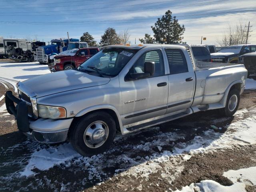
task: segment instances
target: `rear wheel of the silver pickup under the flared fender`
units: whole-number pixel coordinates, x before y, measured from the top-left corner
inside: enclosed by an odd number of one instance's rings
[[[224,108],[219,109],[220,114],[222,116],[232,117],[240,102],[240,94],[237,89],[233,89],[228,93],[228,98],[226,101],[226,106]]]

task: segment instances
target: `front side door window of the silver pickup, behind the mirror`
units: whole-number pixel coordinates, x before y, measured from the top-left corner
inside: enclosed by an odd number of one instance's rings
[[[154,75],[152,76],[164,75],[164,60],[161,50],[152,50],[144,53],[142,56],[140,56],[140,58],[136,61],[134,66],[130,69],[129,74],[144,73],[145,62],[155,63],[155,72]]]

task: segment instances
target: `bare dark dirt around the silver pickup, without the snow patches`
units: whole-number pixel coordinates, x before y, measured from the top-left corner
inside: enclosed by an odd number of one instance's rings
[[[8,89],[13,91],[10,84],[6,83]],[[6,88],[0,84],[0,97],[6,92]],[[4,100],[0,101],[0,106]],[[256,90],[245,90],[241,96],[239,109],[248,109],[243,118],[251,115],[250,110],[256,106]],[[0,114],[3,115],[3,114]],[[218,120],[218,121],[216,121]],[[74,158],[66,166],[60,164],[49,170],[33,171],[36,174],[28,178],[15,176],[21,168],[28,164],[28,159],[35,149],[51,148],[55,145],[38,144],[30,141],[22,133],[18,132],[14,117],[11,115],[0,117],[0,191],[96,191],[96,192],[124,192],[124,191],[174,191],[181,190],[183,186],[191,183],[198,183],[202,180],[214,180],[224,186],[230,186],[233,183],[225,178],[223,172],[228,170],[238,170],[256,166],[256,146],[236,145],[232,148],[212,150],[208,153],[193,154],[189,160],[184,160],[182,156],[170,158],[168,162],[159,162],[156,172],[149,174],[147,179],[142,176],[132,174],[122,175],[125,171],[131,169],[134,164],[127,162],[125,158],[130,158],[136,163],[147,164],[148,156],[159,153],[157,147],[152,144],[150,150],[136,150],[138,146],[145,143],[154,143],[161,139],[162,135],[177,134],[181,135],[170,144],[162,146],[162,150],[173,151],[175,147],[186,142],[190,142],[197,136],[203,136],[205,131],[211,130],[213,121],[221,130],[215,132],[232,132],[225,127],[231,123],[240,121],[240,117],[221,118],[217,110],[198,112],[190,116],[161,124],[158,129],[149,129],[134,134],[121,137],[114,142],[109,153],[103,154],[101,170],[104,175],[92,176],[86,165],[86,162],[76,162]],[[165,135],[164,135],[165,136]],[[16,147],[18,146],[18,147]],[[58,146],[58,145],[56,145]],[[33,148],[33,149],[32,149]],[[124,161],[119,162],[120,159]],[[16,161],[18,160],[18,161]],[[92,160],[92,159],[90,159]],[[97,162],[94,162],[97,164]],[[21,166],[22,164],[22,166]],[[174,168],[173,168],[173,165]],[[123,171],[116,170],[123,168]],[[163,174],[168,174],[172,182],[163,179]],[[179,170],[180,171],[177,171]],[[100,178],[100,179],[99,179]],[[85,179],[86,182],[85,182]],[[103,183],[101,183],[103,182]],[[100,184],[98,184],[100,183]],[[4,186],[4,187],[3,187]],[[140,187],[141,186],[141,187]],[[246,186],[247,192],[255,192],[256,186]]]

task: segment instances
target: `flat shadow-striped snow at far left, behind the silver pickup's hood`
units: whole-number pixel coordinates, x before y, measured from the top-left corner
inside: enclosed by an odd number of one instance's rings
[[[48,73],[48,66],[38,62],[0,62],[0,77],[10,80],[24,81]]]

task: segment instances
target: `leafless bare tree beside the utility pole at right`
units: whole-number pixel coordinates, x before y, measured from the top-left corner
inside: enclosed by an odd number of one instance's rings
[[[224,38],[216,42],[220,46],[229,46],[237,44],[246,44],[245,26],[247,22],[238,22],[237,24],[228,24],[227,31],[224,32]]]

